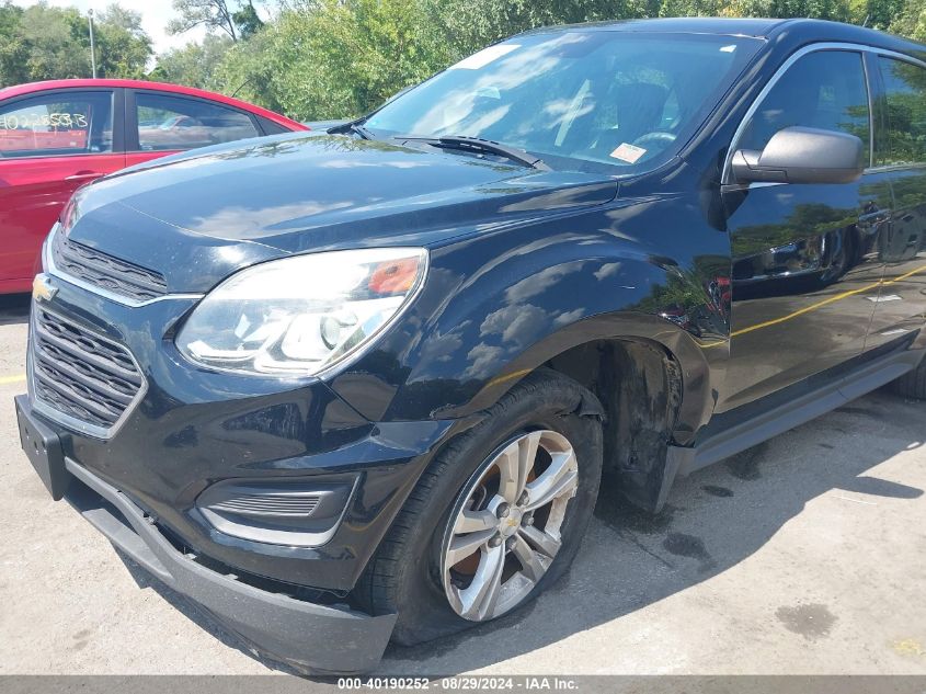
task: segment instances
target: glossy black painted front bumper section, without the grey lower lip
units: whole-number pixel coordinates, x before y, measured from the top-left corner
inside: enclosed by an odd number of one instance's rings
[[[64,454],[118,489],[197,554],[237,571],[348,593],[451,421],[371,422],[324,383],[235,376],[196,368],[172,332],[195,304],[171,297],[128,307],[54,277],[47,310],[124,345],[147,387],[105,439],[30,405]],[[33,334],[34,338],[34,334]],[[34,349],[30,349],[32,373]],[[354,492],[323,544],[228,534],[197,500],[226,481],[282,486],[350,483]]]

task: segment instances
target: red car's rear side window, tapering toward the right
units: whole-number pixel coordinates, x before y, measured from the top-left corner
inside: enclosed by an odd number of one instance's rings
[[[136,92],[138,145],[142,150],[174,150],[258,137],[250,116],[196,99]]]

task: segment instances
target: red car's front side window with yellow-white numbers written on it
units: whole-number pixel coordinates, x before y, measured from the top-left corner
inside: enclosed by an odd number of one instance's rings
[[[112,92],[57,92],[0,106],[3,159],[112,150]]]

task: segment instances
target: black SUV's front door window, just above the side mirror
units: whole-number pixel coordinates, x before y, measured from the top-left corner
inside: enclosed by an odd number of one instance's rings
[[[778,130],[793,126],[848,133],[869,146],[861,54],[819,50],[799,58],[762,101],[736,147],[761,151]]]

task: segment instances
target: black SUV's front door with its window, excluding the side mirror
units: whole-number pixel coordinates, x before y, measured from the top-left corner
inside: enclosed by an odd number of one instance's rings
[[[778,130],[815,127],[871,148],[860,53],[799,57],[761,98],[734,149],[761,151]],[[870,163],[870,161],[869,161]],[[877,243],[891,214],[888,174],[849,184],[728,184],[733,305],[725,397],[746,405],[861,353],[883,263]]]

